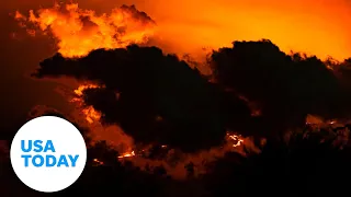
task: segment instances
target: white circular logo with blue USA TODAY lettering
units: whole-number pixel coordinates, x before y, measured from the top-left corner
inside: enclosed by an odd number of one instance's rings
[[[66,119],[42,116],[14,136],[10,159],[16,176],[32,189],[63,190],[83,172],[87,147],[79,130]]]

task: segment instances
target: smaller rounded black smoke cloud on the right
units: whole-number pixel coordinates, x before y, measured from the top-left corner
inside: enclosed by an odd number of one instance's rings
[[[317,57],[286,55],[270,40],[234,42],[214,51],[211,63],[219,84],[258,103],[260,130],[274,134],[302,126],[307,114],[337,118],[350,109],[351,89],[342,88],[332,68]]]

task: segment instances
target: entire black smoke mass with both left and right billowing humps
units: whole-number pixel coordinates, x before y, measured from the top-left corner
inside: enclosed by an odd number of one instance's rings
[[[338,117],[348,94],[316,57],[288,56],[269,40],[235,42],[210,58],[216,83],[176,56],[131,45],[98,49],[79,59],[59,54],[41,62],[36,78],[71,77],[104,88],[84,102],[136,142],[183,151],[217,146],[226,130],[276,135],[305,124],[307,114]],[[252,103],[260,116],[252,116]]]

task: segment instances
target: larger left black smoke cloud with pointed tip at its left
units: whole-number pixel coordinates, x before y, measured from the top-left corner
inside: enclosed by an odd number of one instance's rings
[[[34,76],[67,76],[103,84],[86,90],[84,102],[102,112],[104,123],[118,124],[136,142],[157,141],[183,151],[217,146],[226,132],[223,102],[235,103],[225,106],[238,112],[238,124],[250,118],[245,102],[220,95],[199,71],[156,47],[99,49],[79,59],[58,54],[44,60]]]

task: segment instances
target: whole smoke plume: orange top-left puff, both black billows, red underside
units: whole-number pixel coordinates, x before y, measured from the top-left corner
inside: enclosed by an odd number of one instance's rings
[[[156,23],[133,5],[102,15],[78,4],[55,5],[30,16],[16,12],[15,19],[29,34],[39,31],[57,40],[58,54],[32,77],[80,81],[69,101],[93,140],[106,140],[118,159],[133,158],[146,170],[162,165],[179,175],[191,163],[202,171],[228,151],[259,152],[247,136],[280,136],[305,126],[307,114],[349,115],[348,61],[331,66],[287,55],[268,39],[234,42],[208,57],[210,80],[178,56],[148,46]]]

